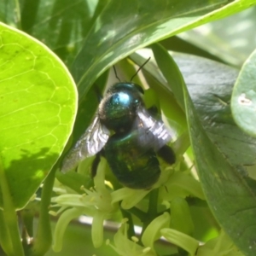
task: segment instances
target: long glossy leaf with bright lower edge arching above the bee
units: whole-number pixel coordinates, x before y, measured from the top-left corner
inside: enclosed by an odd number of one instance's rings
[[[73,63],[72,73],[78,82],[79,99],[103,71],[136,49],[246,8],[246,4],[240,3],[232,9],[226,5],[227,9],[224,9],[223,1],[190,3],[189,0],[161,3],[121,0],[119,4],[109,1],[91,26]]]

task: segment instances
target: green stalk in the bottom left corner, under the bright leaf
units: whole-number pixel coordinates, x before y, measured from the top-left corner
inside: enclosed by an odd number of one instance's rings
[[[9,182],[6,178],[5,172],[3,171],[3,163],[0,158],[0,187],[3,195],[3,227],[1,226],[1,243],[6,239],[6,247],[9,256],[24,256],[23,247],[20,240],[20,231],[17,221],[17,215],[15,211],[15,205],[13,198],[9,191]],[[7,236],[2,237],[3,232]]]

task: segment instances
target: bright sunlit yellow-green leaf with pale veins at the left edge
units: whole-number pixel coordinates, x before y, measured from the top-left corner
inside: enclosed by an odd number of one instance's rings
[[[0,55],[0,157],[9,193],[21,208],[67,143],[77,93],[67,68],[44,44],[3,24]]]

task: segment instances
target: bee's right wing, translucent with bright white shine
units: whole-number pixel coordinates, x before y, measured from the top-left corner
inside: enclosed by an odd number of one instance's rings
[[[147,109],[137,108],[137,129],[140,143],[158,150],[172,140],[171,132],[167,130],[162,120],[154,119]]]

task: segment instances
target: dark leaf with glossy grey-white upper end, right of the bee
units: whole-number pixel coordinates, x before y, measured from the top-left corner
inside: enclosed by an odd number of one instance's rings
[[[231,165],[245,173],[246,166],[256,163],[256,140],[237,127],[230,111],[238,71],[215,61],[195,61],[194,56],[179,57],[177,64],[207,135]]]

